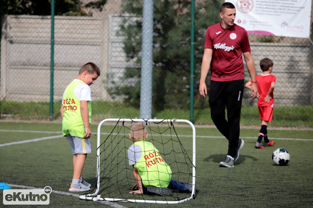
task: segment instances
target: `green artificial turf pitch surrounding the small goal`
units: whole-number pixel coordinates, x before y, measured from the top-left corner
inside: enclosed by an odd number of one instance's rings
[[[60,135],[59,123],[1,122],[0,144],[53,135]],[[104,125],[110,132],[113,126]],[[190,134],[190,128],[175,124],[177,134]],[[14,132],[14,130],[47,131],[47,133]],[[91,130],[96,132],[97,126]],[[48,133],[55,132],[55,133]],[[222,136],[216,128],[196,128],[196,198],[179,205],[158,205],[114,202],[124,207],[311,207],[313,204],[313,140],[311,130],[268,129],[273,147],[255,149],[259,129],[241,129],[240,137],[245,145],[234,168],[220,168],[228,142],[224,138],[200,136]],[[276,139],[275,139],[276,138]],[[277,139],[279,138],[279,139]],[[285,140],[283,140],[285,138]],[[302,140],[292,140],[302,139]],[[190,137],[180,137],[188,155],[191,153]],[[83,170],[86,181],[95,185],[96,135],[91,137],[92,153],[88,155]],[[275,166],[272,152],[285,148],[291,155],[287,166]],[[68,192],[71,182],[72,153],[63,137],[0,147],[0,182]],[[189,155],[190,156],[190,155]],[[12,187],[13,189],[18,189]],[[0,190],[0,197],[3,190]],[[107,204],[80,200],[74,196],[51,194],[50,204],[3,205],[1,207],[111,207]]]

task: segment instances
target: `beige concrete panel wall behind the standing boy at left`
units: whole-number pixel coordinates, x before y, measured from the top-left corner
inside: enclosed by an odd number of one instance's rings
[[[88,62],[101,70],[91,86],[93,99],[107,98],[108,18],[55,17],[54,99]],[[1,38],[1,100],[49,101],[50,16],[4,17]]]

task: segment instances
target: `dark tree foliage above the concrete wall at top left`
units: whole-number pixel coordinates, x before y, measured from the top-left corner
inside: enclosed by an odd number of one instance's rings
[[[94,0],[86,5],[80,0],[55,0],[55,15],[86,16],[83,8],[102,10],[107,0]],[[51,0],[1,0],[2,14],[51,15]]]

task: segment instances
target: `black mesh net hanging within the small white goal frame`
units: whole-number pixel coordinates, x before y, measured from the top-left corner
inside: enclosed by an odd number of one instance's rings
[[[178,191],[173,191],[171,196],[129,193],[136,184],[133,167],[129,165],[127,156],[128,148],[134,144],[133,140],[129,138],[130,128],[134,123],[133,121],[119,121],[108,136],[101,135],[100,146],[98,147],[100,155],[97,155],[99,169],[97,175],[99,183],[96,187],[99,188],[99,191],[97,195],[115,201],[179,201],[190,198],[192,193],[180,193]],[[173,123],[171,121],[165,123],[143,122],[148,131],[146,141],[151,142],[159,150],[163,160],[171,167],[173,180],[192,184],[192,168],[194,165],[192,164],[192,158],[187,154],[191,154],[192,149],[186,151],[179,140]],[[192,143],[192,136],[190,136],[189,142]],[[90,194],[94,193],[95,189],[91,190]]]

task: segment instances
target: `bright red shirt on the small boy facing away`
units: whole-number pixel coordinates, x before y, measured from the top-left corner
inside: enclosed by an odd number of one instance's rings
[[[259,99],[257,106],[271,106],[274,107],[274,93],[271,94],[271,97],[273,100],[270,100],[269,103],[264,102],[264,98],[269,93],[269,89],[271,87],[271,83],[276,81],[276,77],[272,74],[260,74],[256,76],[258,86],[258,92],[259,92]]]

